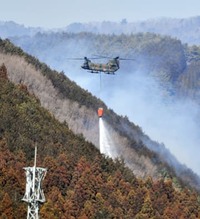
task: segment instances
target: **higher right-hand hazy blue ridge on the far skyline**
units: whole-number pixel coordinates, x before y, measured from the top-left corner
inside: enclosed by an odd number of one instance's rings
[[[92,32],[97,34],[157,33],[180,39],[190,45],[200,44],[200,17],[187,19],[157,18],[138,22],[123,19],[117,22],[72,23],[64,31],[72,33]]]

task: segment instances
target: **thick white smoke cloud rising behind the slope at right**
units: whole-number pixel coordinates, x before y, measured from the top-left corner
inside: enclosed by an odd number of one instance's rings
[[[177,159],[200,175],[199,106],[188,99],[167,95],[159,83],[141,72],[119,72],[116,86],[103,99],[120,115],[126,115],[150,136],[164,143]]]

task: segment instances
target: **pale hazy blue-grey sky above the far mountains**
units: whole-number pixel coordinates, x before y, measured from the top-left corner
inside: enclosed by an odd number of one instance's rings
[[[0,21],[46,28],[73,22],[200,15],[200,0],[0,0],[0,4]]]

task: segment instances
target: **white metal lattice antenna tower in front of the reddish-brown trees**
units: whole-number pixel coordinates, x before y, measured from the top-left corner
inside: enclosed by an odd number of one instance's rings
[[[28,203],[27,219],[39,219],[39,206],[45,202],[41,182],[47,169],[36,167],[37,146],[35,146],[34,166],[23,168],[26,171],[26,191],[23,201]]]

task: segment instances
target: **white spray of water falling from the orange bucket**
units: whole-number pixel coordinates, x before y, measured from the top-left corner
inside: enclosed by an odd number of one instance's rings
[[[99,146],[100,152],[108,157],[115,158],[114,142],[104,124],[102,117],[99,118]]]

